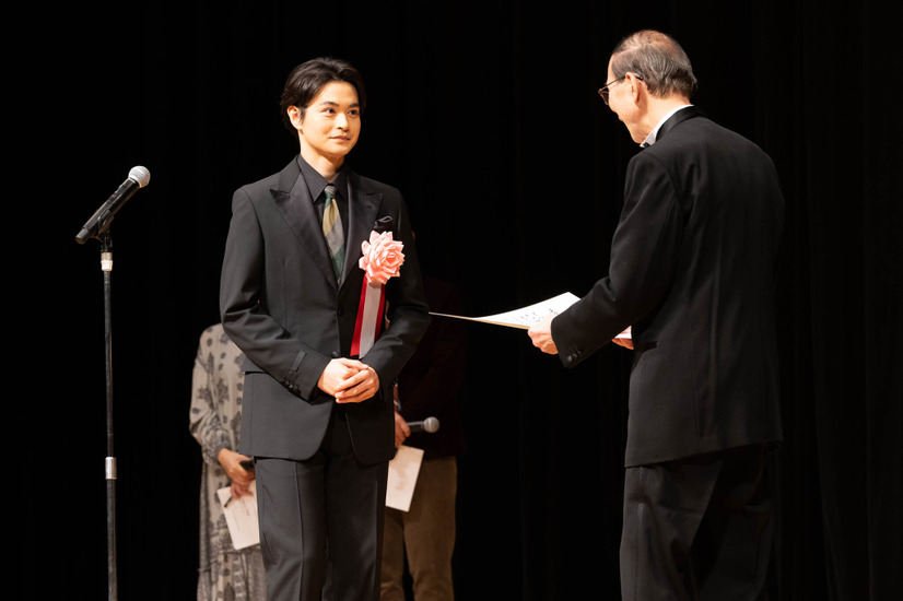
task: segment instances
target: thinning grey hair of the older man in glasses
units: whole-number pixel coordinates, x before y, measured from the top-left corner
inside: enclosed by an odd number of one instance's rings
[[[652,30],[631,34],[614,47],[611,72],[615,78],[637,73],[649,93],[657,97],[680,94],[690,98],[699,85],[690,58],[680,44]]]

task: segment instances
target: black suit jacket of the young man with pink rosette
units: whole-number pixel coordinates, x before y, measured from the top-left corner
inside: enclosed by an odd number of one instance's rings
[[[348,174],[345,262],[337,283],[321,221],[297,157],[282,172],[236,190],[223,260],[223,327],[246,355],[242,452],[304,460],[320,446],[335,399],[317,388],[333,357],[349,356],[364,273],[361,244],[390,217],[404,244],[401,275],[386,284],[390,326],[361,361],[380,392],[341,405],[354,453],[364,463],[392,457],[390,386],[417,347],[430,316],[407,209],[389,186]]]

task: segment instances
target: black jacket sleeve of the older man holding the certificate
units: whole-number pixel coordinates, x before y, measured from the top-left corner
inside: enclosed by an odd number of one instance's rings
[[[565,367],[652,311],[673,276],[684,217],[672,180],[655,156],[641,153],[631,162],[626,181],[609,275],[552,320],[552,339]]]

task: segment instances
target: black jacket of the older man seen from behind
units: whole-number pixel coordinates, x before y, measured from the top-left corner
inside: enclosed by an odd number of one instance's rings
[[[628,326],[626,466],[781,438],[772,161],[695,108],[634,156],[609,275],[552,322],[565,366]]]

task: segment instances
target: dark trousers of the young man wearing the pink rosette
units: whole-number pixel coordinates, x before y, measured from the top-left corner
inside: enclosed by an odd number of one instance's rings
[[[388,463],[354,458],[337,411],[310,459],[255,470],[268,601],[317,601],[328,574],[329,599],[377,601]]]

